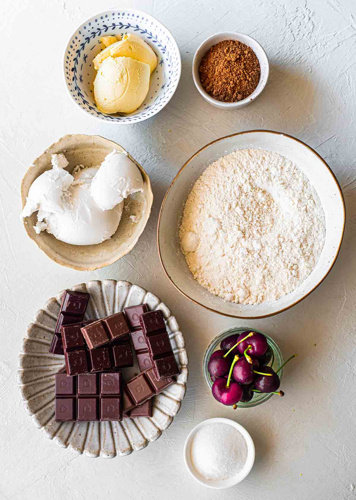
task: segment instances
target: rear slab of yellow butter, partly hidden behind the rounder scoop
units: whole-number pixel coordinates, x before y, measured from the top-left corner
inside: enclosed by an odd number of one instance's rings
[[[132,57],[140,62],[145,62],[150,66],[150,72],[157,66],[157,55],[152,48],[139,36],[135,34],[124,34],[122,40],[116,41],[114,36],[105,36],[100,41],[106,46],[93,59],[94,68],[99,69],[100,64],[107,57]]]

